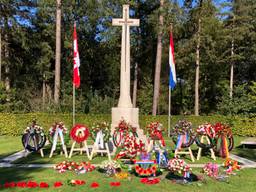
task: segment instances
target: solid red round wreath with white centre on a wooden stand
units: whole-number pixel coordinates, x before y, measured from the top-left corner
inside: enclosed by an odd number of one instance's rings
[[[76,124],[70,130],[70,137],[77,143],[82,143],[89,137],[89,128],[84,125]]]

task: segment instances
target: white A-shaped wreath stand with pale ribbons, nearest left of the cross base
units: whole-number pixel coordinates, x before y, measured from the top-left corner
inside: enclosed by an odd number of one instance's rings
[[[108,159],[111,160],[111,155],[108,147],[108,143],[104,142],[104,135],[102,131],[99,131],[97,133],[95,142],[92,147],[91,156],[89,157],[89,160],[92,160],[93,155],[96,153],[101,153],[101,156],[103,156],[103,153],[106,153],[108,155]]]

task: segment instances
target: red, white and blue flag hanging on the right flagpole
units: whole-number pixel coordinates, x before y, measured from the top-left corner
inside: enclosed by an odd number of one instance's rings
[[[173,89],[176,85],[176,70],[175,70],[174,44],[173,44],[172,33],[170,33],[169,65],[170,65],[169,86],[171,89]]]

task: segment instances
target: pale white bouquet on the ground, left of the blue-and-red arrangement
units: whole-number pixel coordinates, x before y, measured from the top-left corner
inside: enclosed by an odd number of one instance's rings
[[[114,176],[119,170],[121,170],[121,166],[117,161],[106,160],[100,164],[100,169],[102,169],[107,176]]]

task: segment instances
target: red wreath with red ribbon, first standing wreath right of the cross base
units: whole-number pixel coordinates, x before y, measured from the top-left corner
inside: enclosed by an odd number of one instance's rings
[[[146,129],[149,137],[152,140],[160,140],[162,145],[165,146],[165,141],[162,134],[163,125],[159,122],[152,122],[147,125]]]

